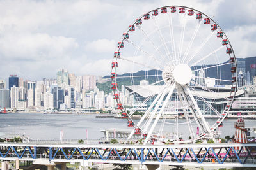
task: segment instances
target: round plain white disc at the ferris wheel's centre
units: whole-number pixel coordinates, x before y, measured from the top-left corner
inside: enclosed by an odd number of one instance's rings
[[[192,70],[188,64],[179,64],[173,69],[173,78],[180,85],[188,84],[192,77]]]

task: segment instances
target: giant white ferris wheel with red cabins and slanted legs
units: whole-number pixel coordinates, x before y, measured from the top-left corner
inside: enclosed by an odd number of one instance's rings
[[[116,109],[131,128],[127,141],[134,135],[144,144],[215,140],[236,95],[236,57],[209,16],[164,6],[129,25],[114,52],[111,80]]]

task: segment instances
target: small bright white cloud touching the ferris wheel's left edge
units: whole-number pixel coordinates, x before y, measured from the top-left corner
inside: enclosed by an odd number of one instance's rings
[[[108,39],[98,39],[96,41],[87,43],[85,46],[86,50],[97,53],[113,52],[115,50],[115,47],[116,41]]]

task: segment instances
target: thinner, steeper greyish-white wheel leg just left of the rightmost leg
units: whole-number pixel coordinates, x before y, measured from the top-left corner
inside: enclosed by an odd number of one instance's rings
[[[191,125],[191,121],[190,121],[190,118],[189,118],[189,114],[188,114],[188,112],[186,110],[186,106],[185,106],[186,104],[188,105],[188,102],[184,101],[182,99],[182,96],[181,96],[181,94],[182,94],[182,87],[180,87],[180,85],[177,85],[177,93],[178,93],[179,99],[180,99],[181,104],[182,104],[182,110],[184,111],[184,115],[185,115],[185,118],[187,120],[187,124],[188,124],[188,127],[189,127],[189,132],[191,134],[191,138],[195,139],[196,138],[195,137],[195,133],[193,131],[193,128],[192,128],[192,125]],[[185,97],[184,97],[184,99],[185,99]]]

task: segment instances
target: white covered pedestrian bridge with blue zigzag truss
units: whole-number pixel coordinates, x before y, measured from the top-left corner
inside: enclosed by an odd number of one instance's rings
[[[0,143],[0,160],[256,167],[256,143],[65,145]]]

